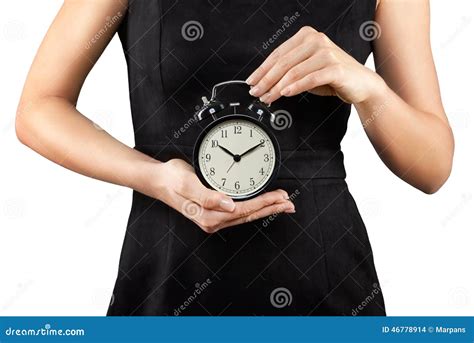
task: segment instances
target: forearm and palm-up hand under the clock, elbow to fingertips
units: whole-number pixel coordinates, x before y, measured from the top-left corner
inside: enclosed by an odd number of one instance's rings
[[[202,185],[185,161],[161,163],[120,143],[64,98],[23,102],[16,130],[24,144],[51,161],[161,200],[207,233],[274,213],[295,212],[288,193],[281,189],[235,204]]]

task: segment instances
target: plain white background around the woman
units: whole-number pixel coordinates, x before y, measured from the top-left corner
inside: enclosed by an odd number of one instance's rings
[[[16,139],[21,88],[61,3],[10,0],[0,11],[0,315],[104,315],[131,205],[131,190],[76,175]],[[433,51],[456,137],[454,169],[441,191],[424,195],[391,174],[355,112],[343,141],[389,315],[474,314],[473,13],[472,0],[432,1]],[[118,37],[78,108],[133,146]]]

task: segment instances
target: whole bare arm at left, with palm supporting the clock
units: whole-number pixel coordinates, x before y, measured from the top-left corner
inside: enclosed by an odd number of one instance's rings
[[[98,129],[76,109],[86,76],[125,15],[125,3],[64,2],[25,83],[16,117],[20,141],[68,169],[162,200],[206,232],[293,212],[282,190],[235,204],[205,188],[184,161],[160,163]],[[196,211],[195,204],[202,208]]]

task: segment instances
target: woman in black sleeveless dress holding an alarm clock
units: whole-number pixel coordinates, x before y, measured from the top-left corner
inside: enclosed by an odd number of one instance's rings
[[[117,30],[134,149],[75,108]],[[363,66],[372,51],[377,73]],[[181,130],[197,99],[232,79],[292,119],[277,132],[274,190],[241,202],[201,184],[189,164],[200,128]],[[46,158],[134,190],[109,315],[385,315],[344,181],[351,104],[390,170],[428,194],[443,185],[454,142],[428,0],[67,0],[33,62],[16,130]]]

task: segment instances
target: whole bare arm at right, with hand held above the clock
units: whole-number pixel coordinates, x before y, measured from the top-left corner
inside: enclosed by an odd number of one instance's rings
[[[381,0],[376,20],[378,74],[305,27],[249,77],[251,92],[266,102],[310,91],[354,104],[384,163],[431,194],[450,175],[454,139],[431,53],[429,1]]]

